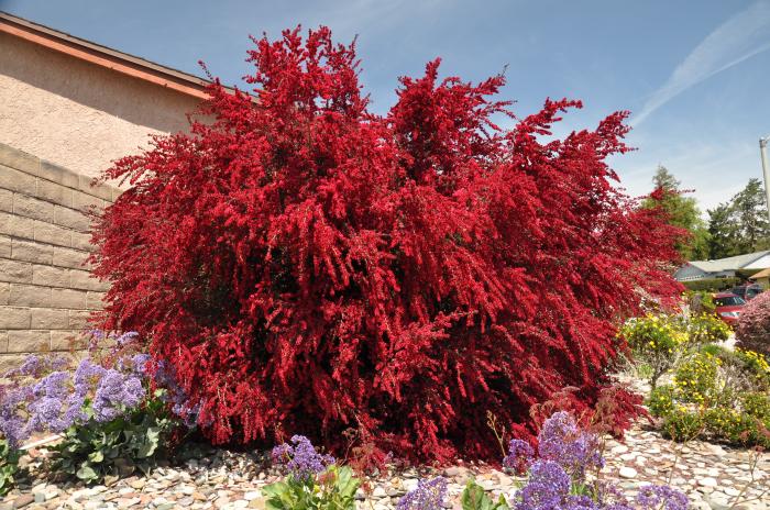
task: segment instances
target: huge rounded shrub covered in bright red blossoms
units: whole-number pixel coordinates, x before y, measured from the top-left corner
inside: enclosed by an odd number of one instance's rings
[[[256,41],[256,100],[218,82],[208,123],[160,137],[108,178],[105,324],[167,361],[212,441],[342,432],[424,459],[498,457],[486,411],[575,386],[593,402],[639,293],[679,290],[672,236],[610,185],[625,113],[541,141],[576,101],[510,131],[480,85],[403,78],[367,111],[352,46],[320,29]],[[513,114],[510,114],[513,118]]]

